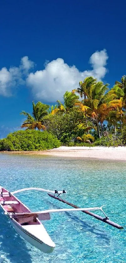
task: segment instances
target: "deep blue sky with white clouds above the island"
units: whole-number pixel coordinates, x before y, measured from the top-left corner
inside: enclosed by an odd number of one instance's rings
[[[113,0],[1,1],[1,138],[32,100],[52,105],[88,75],[112,87],[126,74],[125,10]]]

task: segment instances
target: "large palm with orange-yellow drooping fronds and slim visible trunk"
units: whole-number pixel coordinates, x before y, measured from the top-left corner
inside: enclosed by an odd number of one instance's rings
[[[98,137],[102,136],[103,121],[108,113],[112,110],[121,107],[122,101],[116,99],[117,95],[114,90],[108,90],[108,84],[103,82],[97,82],[91,85],[86,94],[86,99],[83,100],[83,104],[88,106],[88,115],[96,121]],[[99,122],[101,124],[101,133],[99,129]]]

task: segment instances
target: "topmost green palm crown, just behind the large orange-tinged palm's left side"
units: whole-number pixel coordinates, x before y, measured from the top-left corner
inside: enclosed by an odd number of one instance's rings
[[[77,92],[81,98],[84,97],[84,99],[86,99],[87,93],[90,90],[90,87],[92,85],[94,85],[96,83],[97,79],[93,78],[93,77],[87,77],[84,79],[84,81],[80,81],[79,82],[79,88],[78,89],[73,89],[72,93],[74,94],[75,92]]]

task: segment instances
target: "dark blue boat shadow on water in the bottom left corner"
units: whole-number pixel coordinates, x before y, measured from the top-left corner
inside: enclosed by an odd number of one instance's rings
[[[0,262],[32,263],[31,249],[28,249],[1,209],[0,216]]]

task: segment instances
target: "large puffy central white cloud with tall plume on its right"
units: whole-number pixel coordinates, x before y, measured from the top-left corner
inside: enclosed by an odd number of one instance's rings
[[[107,69],[108,55],[106,50],[96,51],[89,59],[92,70],[80,72],[75,66],[64,63],[62,58],[57,58],[45,64],[44,70],[31,72],[27,78],[27,85],[31,87],[36,99],[54,102],[62,99],[66,90],[78,88],[79,81],[88,76],[101,80]]]

